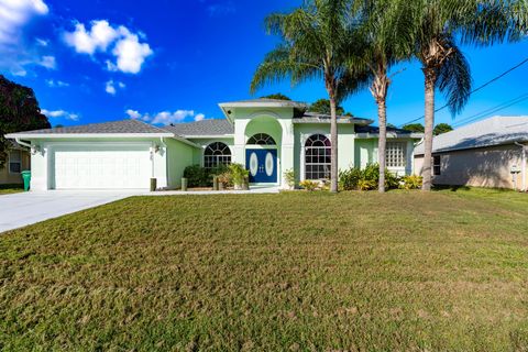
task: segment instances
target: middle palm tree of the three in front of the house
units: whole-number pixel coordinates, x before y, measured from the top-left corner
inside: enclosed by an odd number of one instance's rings
[[[386,143],[387,143],[387,92],[392,77],[391,68],[397,63],[409,59],[413,54],[413,37],[409,32],[409,15],[404,2],[395,0],[366,0],[363,19],[364,48],[361,61],[352,57],[351,65],[366,65],[372,74],[371,94],[377,105],[380,125],[378,163],[380,193],[385,193]]]

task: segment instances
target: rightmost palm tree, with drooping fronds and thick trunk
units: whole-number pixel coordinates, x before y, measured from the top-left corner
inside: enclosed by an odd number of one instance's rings
[[[431,189],[435,94],[438,88],[451,113],[459,113],[471,94],[472,78],[461,44],[492,45],[526,34],[526,0],[415,0],[408,1],[416,42],[415,55],[425,77],[426,128],[424,187]]]

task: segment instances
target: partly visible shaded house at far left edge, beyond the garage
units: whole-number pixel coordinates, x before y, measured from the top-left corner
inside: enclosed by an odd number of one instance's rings
[[[14,141],[9,144],[8,157],[0,166],[0,185],[22,185],[21,172],[30,169],[30,152]]]

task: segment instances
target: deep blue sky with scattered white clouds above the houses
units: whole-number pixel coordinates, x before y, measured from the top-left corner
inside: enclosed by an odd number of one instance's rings
[[[282,92],[326,98],[322,81],[286,80],[251,96],[252,75],[278,38],[263,20],[300,0],[0,0],[0,73],[34,89],[52,125],[139,119],[153,124],[223,118],[218,103]],[[477,87],[528,57],[528,41],[463,47]],[[388,122],[424,114],[416,62],[393,69]],[[494,114],[528,116],[528,64],[473,95],[464,111],[437,122],[462,125]],[[437,106],[443,106],[439,94]],[[517,102],[515,105],[512,105]],[[509,106],[512,105],[512,106]],[[509,106],[509,107],[507,107]],[[343,102],[376,120],[367,89]],[[506,107],[494,111],[495,107]],[[421,122],[421,121],[417,121]]]

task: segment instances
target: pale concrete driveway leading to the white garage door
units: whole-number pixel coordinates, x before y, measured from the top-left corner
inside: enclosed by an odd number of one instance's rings
[[[0,196],[0,232],[106,205],[145,191],[29,191]]]

